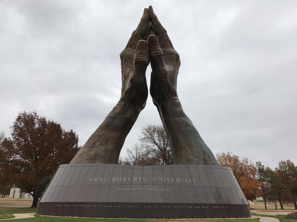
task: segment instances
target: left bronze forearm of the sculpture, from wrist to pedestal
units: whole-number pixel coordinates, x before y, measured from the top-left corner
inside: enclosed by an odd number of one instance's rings
[[[125,138],[139,112],[140,108],[120,100],[70,163],[117,164]]]

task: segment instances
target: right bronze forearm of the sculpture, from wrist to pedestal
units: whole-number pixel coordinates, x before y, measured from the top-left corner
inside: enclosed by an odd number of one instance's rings
[[[218,165],[177,97],[158,105],[157,109],[170,140],[173,164]]]

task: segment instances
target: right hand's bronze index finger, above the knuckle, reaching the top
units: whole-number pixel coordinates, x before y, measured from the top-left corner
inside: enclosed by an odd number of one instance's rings
[[[166,29],[162,26],[160,23],[157,15],[155,14],[153,7],[149,6],[149,16],[150,16],[150,21],[152,24],[152,28],[154,33],[158,36],[160,47],[172,47],[172,42],[167,34]]]

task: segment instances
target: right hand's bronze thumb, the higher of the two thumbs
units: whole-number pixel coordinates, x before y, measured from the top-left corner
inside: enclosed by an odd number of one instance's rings
[[[161,71],[162,73],[162,70],[165,70],[165,63],[163,61],[163,52],[160,48],[158,37],[155,35],[149,35],[148,45],[153,72]]]

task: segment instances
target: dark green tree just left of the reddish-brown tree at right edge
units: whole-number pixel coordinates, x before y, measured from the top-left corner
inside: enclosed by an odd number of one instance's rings
[[[280,177],[277,175],[276,172],[274,172],[269,167],[265,168],[266,171],[266,184],[269,187],[268,194],[272,194],[274,198],[274,204],[275,204],[275,210],[277,210],[277,202],[276,199],[278,198],[279,204],[281,206],[281,209],[284,209],[284,206],[282,204],[282,198],[281,195],[284,191],[287,190],[286,186],[281,183]]]

